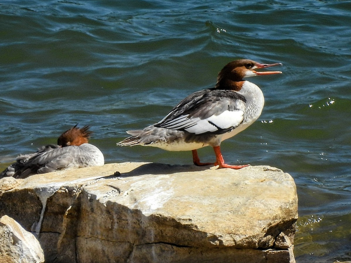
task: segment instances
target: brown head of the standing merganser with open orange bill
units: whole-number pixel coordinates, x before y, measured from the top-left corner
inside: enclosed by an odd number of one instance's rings
[[[257,72],[256,69],[271,66],[282,66],[282,63],[261,64],[249,59],[239,59],[229,62],[218,73],[216,89],[240,90],[244,83],[244,77],[279,74],[281,71]]]

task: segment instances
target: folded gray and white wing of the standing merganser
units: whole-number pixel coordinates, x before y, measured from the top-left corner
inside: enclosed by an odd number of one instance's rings
[[[222,134],[244,120],[246,99],[232,90],[205,89],[182,100],[155,127],[193,134]]]

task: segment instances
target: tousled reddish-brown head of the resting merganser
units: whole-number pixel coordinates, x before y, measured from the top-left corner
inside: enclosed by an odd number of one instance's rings
[[[83,128],[77,128],[76,124],[71,129],[66,130],[57,139],[57,144],[61,147],[65,146],[80,146],[83,143],[88,143],[88,139],[92,131],[89,131],[89,126],[84,126]]]

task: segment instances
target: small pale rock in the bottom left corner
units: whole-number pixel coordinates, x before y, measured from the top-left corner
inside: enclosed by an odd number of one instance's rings
[[[11,217],[0,218],[0,263],[44,262],[38,240]]]

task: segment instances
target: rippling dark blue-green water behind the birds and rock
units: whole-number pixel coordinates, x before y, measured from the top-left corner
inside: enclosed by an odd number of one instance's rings
[[[233,59],[282,62],[283,74],[250,79],[265,108],[222,144],[225,161],[294,177],[297,262],[350,260],[350,25],[343,0],[0,0],[1,168],[76,123],[92,126],[107,162],[190,164],[190,152],[115,143],[212,87]]]

